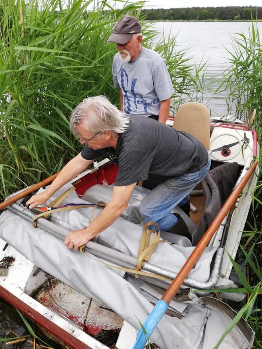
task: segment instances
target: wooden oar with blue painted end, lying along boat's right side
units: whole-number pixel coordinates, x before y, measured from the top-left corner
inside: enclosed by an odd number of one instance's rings
[[[196,264],[198,258],[201,256],[205,247],[209,243],[210,239],[214,233],[219,228],[219,225],[223,222],[227,213],[230,211],[239,195],[241,194],[243,188],[247,184],[247,181],[251,177],[252,173],[255,171],[255,168],[258,164],[256,160],[252,166],[248,169],[245,176],[242,178],[240,183],[235,187],[227,201],[224,203],[223,207],[218,212],[216,218],[210,224],[208,230],[206,230],[202,239],[199,241],[194,251],[190,254],[188,260],[185,262],[183,267],[180,269],[180,272],[177,274],[175,279],[172,281],[166,292],[163,294],[162,298],[154,306],[152,312],[148,315],[146,321],[143,324],[143,328],[140,328],[137,334],[136,342],[133,345],[133,349],[143,349],[147,340],[150,338],[154,329],[157,327],[162,316],[165,314],[168,304],[171,302],[176,292],[179,290],[180,286],[184,282],[185,278],[188,276],[190,270]]]

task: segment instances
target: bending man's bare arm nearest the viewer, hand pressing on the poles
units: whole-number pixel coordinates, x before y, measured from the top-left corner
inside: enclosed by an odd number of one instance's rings
[[[85,245],[101,231],[108,228],[121,213],[128,207],[129,199],[136,183],[114,187],[112,200],[101,211],[100,215],[85,229],[70,232],[65,238],[65,245],[78,251],[78,248]]]

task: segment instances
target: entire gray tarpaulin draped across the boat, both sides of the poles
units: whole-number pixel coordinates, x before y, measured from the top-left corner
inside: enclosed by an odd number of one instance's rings
[[[65,188],[62,191],[65,191]],[[71,194],[67,199],[67,202],[79,201],[81,200],[76,194]],[[100,210],[97,209],[96,216],[99,213]],[[75,230],[86,227],[91,214],[92,208],[67,211],[62,214],[57,213],[52,220],[60,224],[66,221],[65,225]],[[136,255],[142,229],[139,225],[119,218],[100,234],[100,239],[120,251]],[[117,270],[97,262],[97,258],[88,252],[83,254],[68,249],[63,240],[40,228],[33,228],[30,222],[9,211],[3,211],[0,215],[0,236],[38,267],[72,288],[104,303],[136,329],[140,328],[138,320],[143,323],[153,309],[153,305],[147,298],[123,277],[123,273],[119,275]],[[150,262],[178,271],[191,251],[192,247],[175,248],[174,245],[165,242],[158,245]],[[205,251],[190,273],[190,277],[199,277],[204,281],[208,279],[209,265],[214,251],[214,248],[208,248]],[[178,306],[178,308],[181,307]],[[182,309],[181,319],[163,316],[151,336],[152,341],[161,349],[212,348],[229,322],[228,315],[224,315],[224,311],[217,309],[214,305],[206,305],[201,300],[187,299],[182,308],[186,308],[186,315]],[[247,328],[246,337],[239,328],[235,327],[227,336],[225,345],[221,344],[220,348],[250,348],[253,334],[246,323],[245,328]]]

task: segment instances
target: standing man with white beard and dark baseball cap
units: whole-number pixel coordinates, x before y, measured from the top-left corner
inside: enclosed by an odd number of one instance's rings
[[[120,110],[165,124],[174,93],[165,60],[143,47],[141,25],[136,17],[123,16],[114,26],[108,42],[115,42],[114,86],[119,89]]]

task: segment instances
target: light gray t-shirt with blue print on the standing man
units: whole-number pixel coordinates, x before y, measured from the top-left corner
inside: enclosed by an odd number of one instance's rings
[[[159,115],[160,101],[174,93],[165,60],[145,47],[128,63],[121,62],[117,53],[112,72],[114,87],[123,92],[123,110],[127,115]]]

